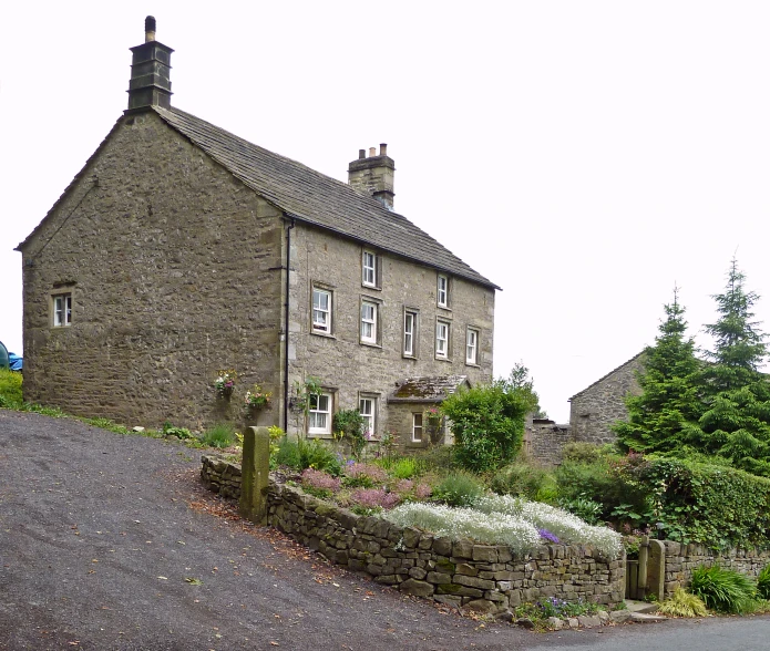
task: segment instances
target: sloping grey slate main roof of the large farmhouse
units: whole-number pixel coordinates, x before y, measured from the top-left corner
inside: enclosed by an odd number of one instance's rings
[[[178,108],[153,106],[187,137],[265,199],[299,221],[332,230],[383,251],[500,289],[409,219],[372,197]]]

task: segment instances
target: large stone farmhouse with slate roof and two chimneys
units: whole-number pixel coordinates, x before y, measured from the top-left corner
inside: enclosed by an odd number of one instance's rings
[[[492,379],[499,288],[393,210],[387,145],[341,183],[172,106],[152,17],[132,52],[127,111],[17,249],[25,400],[199,428],[259,384],[259,424],[328,437],[358,409],[425,444],[430,404]]]

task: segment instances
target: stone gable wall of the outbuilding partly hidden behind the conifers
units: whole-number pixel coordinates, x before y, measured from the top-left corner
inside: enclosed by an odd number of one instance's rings
[[[569,399],[574,441],[596,444],[615,441],[609,427],[628,417],[625,397],[639,391],[636,372],[641,370],[641,362],[639,354]]]

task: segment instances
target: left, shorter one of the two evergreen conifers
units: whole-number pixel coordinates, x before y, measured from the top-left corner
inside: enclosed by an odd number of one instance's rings
[[[695,342],[685,337],[685,308],[676,287],[674,302],[664,310],[660,334],[655,345],[645,349],[637,376],[641,393],[626,399],[628,421],[613,427],[626,450],[681,452],[687,432],[696,427],[701,413],[696,382],[701,362],[695,356]]]

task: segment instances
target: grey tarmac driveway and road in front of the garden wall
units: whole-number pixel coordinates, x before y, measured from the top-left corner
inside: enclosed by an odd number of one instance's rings
[[[768,618],[481,626],[223,517],[199,467],[179,444],[0,410],[0,650],[770,649]]]

